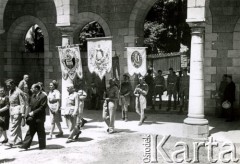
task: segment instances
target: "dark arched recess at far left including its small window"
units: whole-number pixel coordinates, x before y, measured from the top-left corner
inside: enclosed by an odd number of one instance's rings
[[[30,37],[32,30],[34,33],[44,34],[44,42],[41,45],[43,50],[41,51],[26,51],[26,39],[36,44],[36,36]],[[5,65],[5,68],[9,71],[6,73],[6,78],[14,78],[16,81],[20,81],[24,74],[29,74],[30,84],[38,81],[44,83],[44,77],[47,74],[44,69],[44,60],[47,57],[48,50],[49,37],[45,25],[38,18],[32,16],[20,17],[10,26],[7,35],[6,53],[9,55],[7,57],[9,62]]]

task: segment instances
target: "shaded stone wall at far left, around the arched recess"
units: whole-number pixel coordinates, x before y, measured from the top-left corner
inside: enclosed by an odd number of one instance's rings
[[[43,60],[44,83],[48,86],[52,79],[61,80],[57,45],[61,45],[61,33],[56,27],[57,15],[54,1],[49,0],[9,0],[4,11],[3,27],[5,33],[0,36],[0,57],[5,61],[0,69],[1,82],[6,78],[14,78],[17,82],[23,74],[31,72],[31,68],[23,70],[22,59],[30,61],[35,54],[24,53],[24,38],[27,30],[38,24],[44,34],[44,53],[40,54]],[[23,57],[24,56],[24,57]],[[36,56],[36,55],[35,55]],[[42,72],[41,72],[42,73]],[[31,78],[31,77],[30,77]],[[31,79],[31,82],[34,79]],[[47,87],[48,88],[48,87]]]

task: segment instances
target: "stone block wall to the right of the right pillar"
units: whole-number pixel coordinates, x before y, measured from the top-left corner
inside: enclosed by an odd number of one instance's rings
[[[238,0],[211,0],[207,4],[205,28],[205,113],[214,114],[212,91],[219,88],[223,74],[233,76],[236,104],[239,108],[240,38]],[[209,6],[208,6],[209,5]]]

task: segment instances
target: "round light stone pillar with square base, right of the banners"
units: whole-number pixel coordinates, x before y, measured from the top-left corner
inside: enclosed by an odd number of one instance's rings
[[[204,26],[192,25],[190,62],[190,90],[188,117],[184,120],[184,134],[190,138],[207,138],[208,120],[204,118]]]

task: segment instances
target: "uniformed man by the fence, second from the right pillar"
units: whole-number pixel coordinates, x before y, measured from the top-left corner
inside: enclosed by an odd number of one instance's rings
[[[177,105],[177,75],[173,72],[173,68],[169,68],[169,75],[167,78],[167,94],[168,94],[168,108],[167,111],[171,109],[172,96],[174,100],[173,109],[176,110]]]

